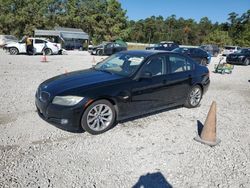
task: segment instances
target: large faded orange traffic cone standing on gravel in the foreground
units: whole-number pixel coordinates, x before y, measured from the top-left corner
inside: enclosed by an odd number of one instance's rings
[[[216,146],[221,142],[216,138],[216,102],[213,101],[207,115],[207,119],[200,135],[194,138],[196,141],[209,146]]]

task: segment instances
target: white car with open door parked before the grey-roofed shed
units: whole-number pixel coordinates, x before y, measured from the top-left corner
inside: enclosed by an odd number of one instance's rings
[[[40,38],[30,38],[33,44],[34,54],[45,53],[46,55],[51,54],[60,54],[61,44],[52,43],[48,40],[40,39]],[[12,42],[5,46],[6,49],[10,52],[11,55],[17,55],[19,53],[26,53],[26,44],[25,41],[20,42]]]

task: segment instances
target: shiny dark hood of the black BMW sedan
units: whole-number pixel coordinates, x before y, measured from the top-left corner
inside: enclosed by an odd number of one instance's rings
[[[94,85],[103,85],[108,81],[119,80],[124,77],[117,74],[87,69],[65,73],[44,81],[40,88],[52,95],[63,94],[70,90],[87,89]]]

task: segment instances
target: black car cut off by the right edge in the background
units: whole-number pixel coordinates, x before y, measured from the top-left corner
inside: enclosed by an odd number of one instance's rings
[[[250,64],[250,48],[242,48],[235,53],[229,54],[226,58],[226,62],[229,64]]]

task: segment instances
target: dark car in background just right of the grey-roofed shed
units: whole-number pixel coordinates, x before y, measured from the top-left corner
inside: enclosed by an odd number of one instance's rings
[[[103,42],[98,46],[93,46],[89,50],[91,55],[112,55],[120,51],[126,51],[127,46],[125,44],[117,42]]]

